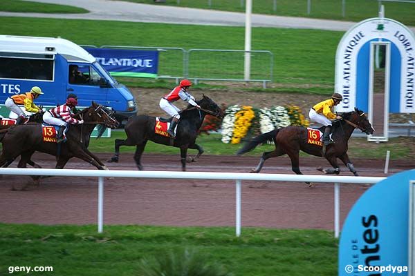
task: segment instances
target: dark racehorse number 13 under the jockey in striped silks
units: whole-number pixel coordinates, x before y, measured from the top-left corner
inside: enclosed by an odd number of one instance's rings
[[[102,135],[105,127],[116,128],[118,121],[110,112],[97,103],[92,103],[89,108],[78,112],[75,117],[83,119],[84,124],[70,125],[65,143],[60,144],[60,153],[57,154],[58,145],[55,142],[44,142],[42,136],[42,124],[19,125],[6,130],[0,130],[0,141],[3,144],[3,152],[0,155],[0,167],[8,166],[11,161],[21,155],[19,168],[26,168],[26,164],[35,151],[46,152],[57,156],[55,168],[64,168],[72,157],[89,162],[100,170],[107,169],[98,157],[93,155],[87,147],[93,128],[99,124],[98,137]]]

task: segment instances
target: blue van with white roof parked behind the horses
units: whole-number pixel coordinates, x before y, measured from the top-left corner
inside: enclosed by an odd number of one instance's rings
[[[75,66],[86,81],[71,79]],[[77,44],[61,38],[0,35],[0,104],[33,86],[44,92],[36,99],[37,106],[63,104],[67,95],[75,93],[79,106],[91,106],[91,101],[109,106],[119,121],[137,113],[129,89]],[[5,109],[2,106],[1,111]]]

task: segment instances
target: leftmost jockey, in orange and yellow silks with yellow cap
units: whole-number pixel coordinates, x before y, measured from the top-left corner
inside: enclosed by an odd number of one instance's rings
[[[25,110],[28,112],[42,113],[42,109],[39,108],[39,106],[36,106],[35,103],[33,103],[33,100],[37,99],[37,97],[39,97],[39,95],[42,94],[43,92],[39,87],[33,86],[33,88],[30,89],[30,92],[26,92],[25,94],[14,95],[6,99],[6,102],[4,103],[6,108],[8,108],[8,110],[11,110],[12,112],[15,112],[18,116],[16,120],[17,125],[23,124],[25,118],[24,111],[17,105],[23,104]]]

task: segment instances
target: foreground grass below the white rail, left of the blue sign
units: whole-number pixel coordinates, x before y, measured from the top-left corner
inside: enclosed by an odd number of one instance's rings
[[[231,227],[37,226],[0,224],[0,275],[9,266],[53,266],[42,275],[138,275],[142,257],[190,248],[238,276],[333,276],[337,240],[325,230]],[[26,275],[13,273],[12,275]],[[30,274],[31,275],[31,274]],[[33,273],[35,275],[35,273]]]

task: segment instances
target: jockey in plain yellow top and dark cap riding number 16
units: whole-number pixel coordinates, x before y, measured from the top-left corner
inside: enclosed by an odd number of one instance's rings
[[[326,126],[323,135],[324,146],[333,144],[333,140],[329,138],[331,131],[331,120],[342,119],[342,117],[333,114],[333,107],[337,106],[340,101],[342,101],[342,99],[342,95],[339,93],[334,93],[331,96],[331,99],[326,99],[325,101],[317,103],[315,106],[313,106],[313,108],[310,109],[310,112],[308,113],[308,117],[310,117],[311,120]]]

